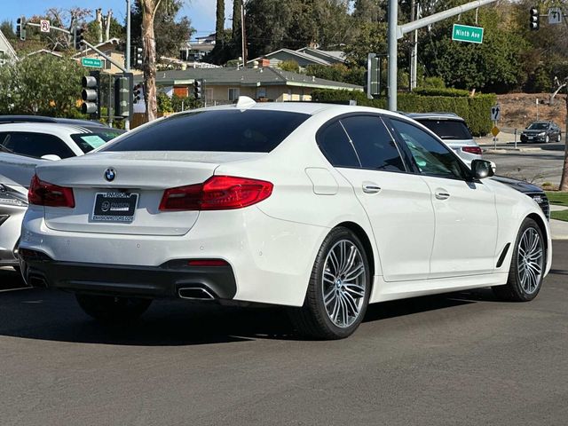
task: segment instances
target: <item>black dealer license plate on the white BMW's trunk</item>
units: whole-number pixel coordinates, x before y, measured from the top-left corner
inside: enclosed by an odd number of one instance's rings
[[[123,222],[134,220],[138,193],[97,193],[92,210],[93,222]]]

